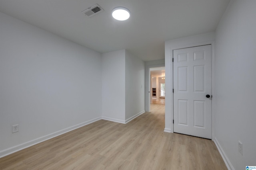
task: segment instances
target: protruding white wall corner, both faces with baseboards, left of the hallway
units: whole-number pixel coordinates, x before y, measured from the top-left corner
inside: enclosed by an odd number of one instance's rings
[[[102,119],[127,123],[145,112],[144,64],[126,50],[102,54]]]

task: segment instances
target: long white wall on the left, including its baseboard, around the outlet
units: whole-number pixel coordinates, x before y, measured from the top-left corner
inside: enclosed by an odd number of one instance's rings
[[[100,53],[0,13],[0,157],[100,119],[100,63]]]

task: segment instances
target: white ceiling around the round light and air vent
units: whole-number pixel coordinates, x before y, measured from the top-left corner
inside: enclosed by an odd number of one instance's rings
[[[106,53],[120,49],[144,61],[164,59],[164,41],[215,31],[230,0],[0,0],[0,12]],[[99,4],[91,18],[82,11]],[[114,20],[128,8],[126,21]]]

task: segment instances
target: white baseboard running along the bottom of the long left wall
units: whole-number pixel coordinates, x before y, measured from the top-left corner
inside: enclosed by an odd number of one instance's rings
[[[90,124],[90,123],[92,123],[92,122],[94,122],[94,121],[98,121],[98,120],[100,120],[100,119],[101,119],[101,117],[97,117],[97,118],[95,118],[95,119],[91,119],[91,120],[89,120],[89,121],[85,121],[85,122],[83,122],[83,123],[79,123],[79,124],[77,124],[77,125],[74,125],[74,126],[71,126],[71,127],[65,128],[65,129],[62,129],[62,130],[60,130],[60,131],[56,131],[56,132],[51,133],[51,134],[49,134],[49,135],[45,135],[45,136],[43,136],[43,137],[39,137],[39,138],[34,139],[34,140],[32,140],[32,141],[28,141],[28,142],[26,142],[26,143],[22,143],[22,144],[20,144],[20,145],[16,145],[16,146],[11,147],[11,148],[8,148],[8,149],[5,149],[5,150],[1,150],[1,151],[0,151],[0,158],[2,158],[2,157],[4,157],[4,156],[7,156],[7,155],[9,155],[9,154],[12,154],[12,153],[14,153],[14,152],[17,152],[17,151],[19,151],[19,150],[22,150],[22,149],[31,147],[31,146],[36,145],[36,144],[38,144],[38,143],[47,141],[47,140],[49,140],[49,139],[52,139],[52,138],[54,138],[54,137],[57,137],[57,136],[62,135],[62,134],[64,134],[64,133],[67,133],[67,132],[72,131],[72,130],[74,130],[74,129],[78,129],[79,127],[88,125],[88,124]]]

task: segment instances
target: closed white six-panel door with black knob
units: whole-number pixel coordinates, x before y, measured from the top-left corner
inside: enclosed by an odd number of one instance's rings
[[[212,139],[211,51],[211,45],[173,51],[176,133]]]

